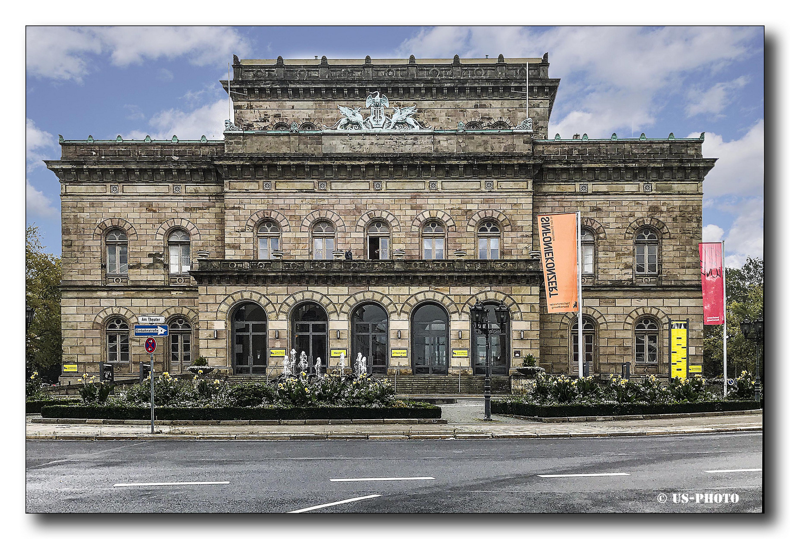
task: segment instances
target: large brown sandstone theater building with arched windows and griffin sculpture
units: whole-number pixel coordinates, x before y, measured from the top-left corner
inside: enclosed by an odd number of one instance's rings
[[[63,140],[62,383],[155,369],[273,376],[361,353],[404,380],[472,384],[480,301],[507,380],[529,354],[576,372],[574,316],[547,314],[537,215],[581,211],[593,374],[666,375],[670,320],[702,364],[702,137],[548,133],[543,58],[234,59],[224,140]],[[494,320],[492,318],[492,320]],[[67,366],[68,365],[68,366]],[[76,366],[75,366],[76,365]],[[460,376],[459,376],[460,375]],[[407,384],[408,385],[408,384]],[[407,387],[407,386],[402,386]],[[469,386],[471,387],[471,386]]]

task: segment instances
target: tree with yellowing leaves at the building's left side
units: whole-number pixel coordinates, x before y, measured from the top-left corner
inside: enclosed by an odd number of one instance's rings
[[[43,252],[38,226],[28,225],[24,238],[24,302],[36,309],[27,332],[25,366],[28,377],[37,371],[43,380],[55,383],[62,357],[61,261]]]

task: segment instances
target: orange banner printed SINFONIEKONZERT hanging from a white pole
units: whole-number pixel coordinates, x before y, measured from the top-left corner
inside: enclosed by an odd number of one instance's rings
[[[538,215],[540,260],[549,313],[578,311],[576,214]]]

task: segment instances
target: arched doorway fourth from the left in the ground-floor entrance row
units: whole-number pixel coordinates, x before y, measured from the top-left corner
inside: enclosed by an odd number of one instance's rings
[[[447,374],[450,319],[434,303],[419,305],[412,315],[412,367],[415,374]]]

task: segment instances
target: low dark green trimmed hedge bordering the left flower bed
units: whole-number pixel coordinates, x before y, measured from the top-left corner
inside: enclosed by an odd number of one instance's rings
[[[180,408],[156,407],[156,419],[233,421],[246,419],[439,419],[442,409],[427,402],[408,402],[408,408],[362,406],[311,408]],[[71,419],[150,419],[150,408],[120,406],[43,406],[43,417]]]

